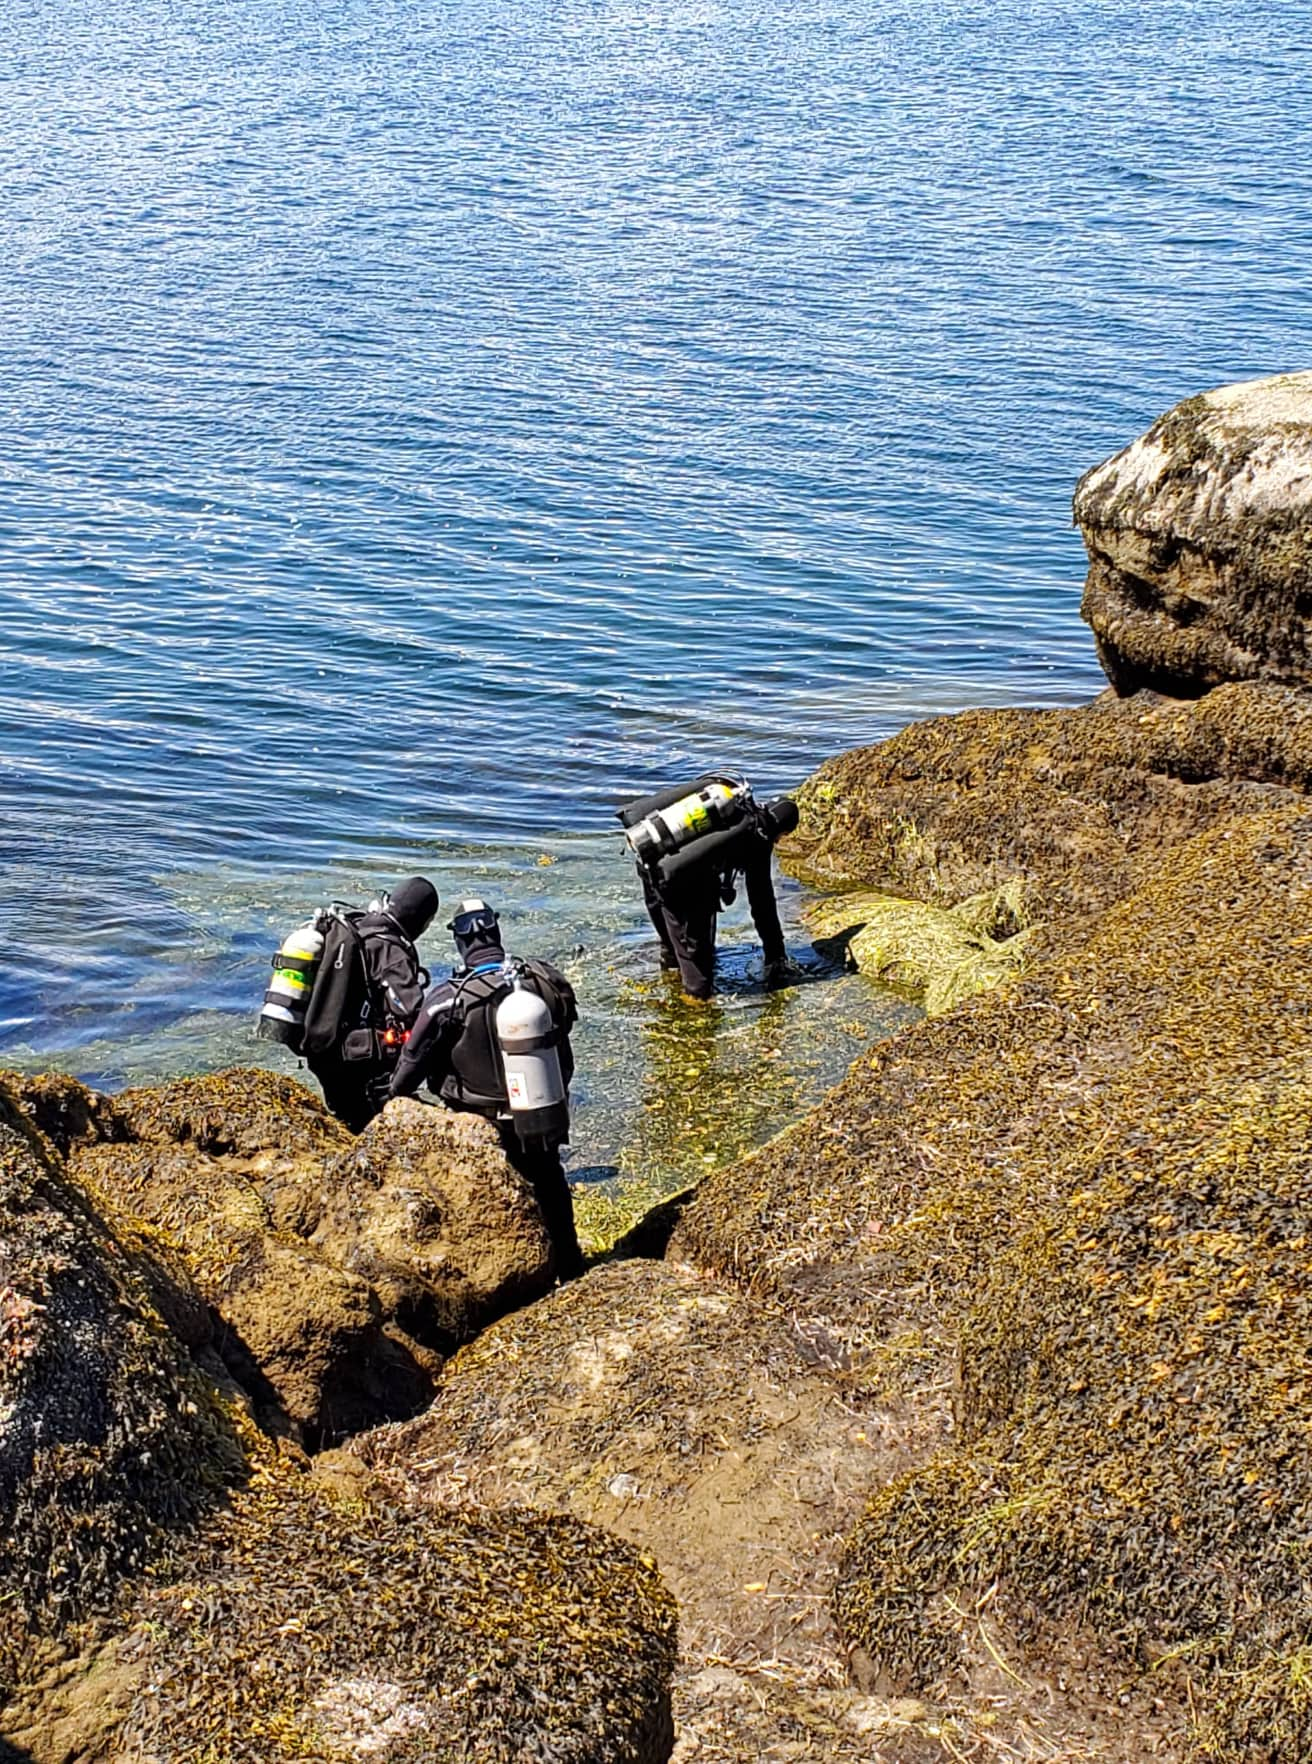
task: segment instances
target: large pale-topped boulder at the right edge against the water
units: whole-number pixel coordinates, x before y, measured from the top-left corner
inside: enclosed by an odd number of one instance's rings
[[[1118,691],[1312,684],[1312,372],[1185,399],[1085,473],[1074,512]]]

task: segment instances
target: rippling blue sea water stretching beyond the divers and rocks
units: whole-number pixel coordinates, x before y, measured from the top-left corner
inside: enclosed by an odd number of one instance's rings
[[[1312,362],[1307,23],[16,0],[0,1057],[233,1057],[409,870],[610,997],[624,794],[1099,690],[1076,478]]]

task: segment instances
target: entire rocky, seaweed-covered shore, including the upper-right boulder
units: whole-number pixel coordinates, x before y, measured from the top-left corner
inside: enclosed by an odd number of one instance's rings
[[[933,1014],[640,1254],[418,1104],[0,1080],[0,1759],[1312,1755],[1312,374],[1076,517],[1109,691],[802,790]]]

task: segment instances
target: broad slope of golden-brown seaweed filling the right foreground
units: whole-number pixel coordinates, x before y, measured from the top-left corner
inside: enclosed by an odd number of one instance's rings
[[[958,1432],[882,1489],[836,1600],[908,1685],[954,1607],[1042,1655],[1088,1630],[1194,1685],[1219,1764],[1312,1755],[1312,810],[1159,852],[1018,983],[903,1030],[813,1117],[709,1177],[672,1252],[924,1378]]]

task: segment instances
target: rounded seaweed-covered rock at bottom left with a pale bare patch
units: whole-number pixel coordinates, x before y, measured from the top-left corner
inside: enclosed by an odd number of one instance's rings
[[[277,1480],[134,1611],[122,1755],[663,1764],[674,1602],[571,1519],[400,1512]]]

